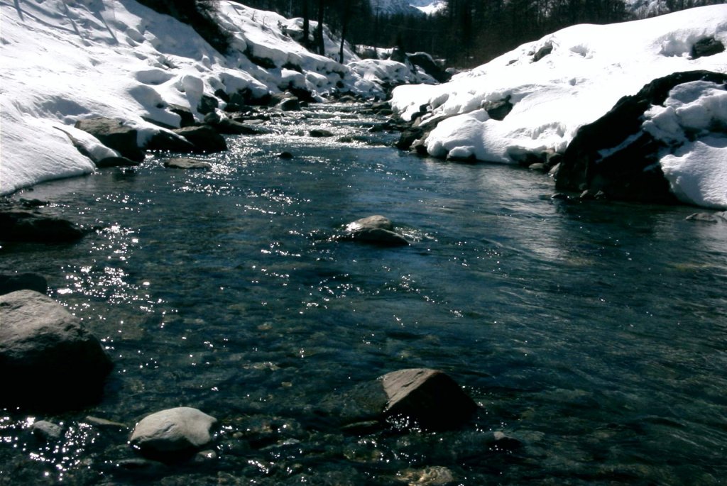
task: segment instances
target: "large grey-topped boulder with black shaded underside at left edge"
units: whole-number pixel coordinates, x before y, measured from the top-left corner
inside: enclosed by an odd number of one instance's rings
[[[0,296],[3,405],[67,410],[97,400],[111,360],[62,305],[36,291]]]

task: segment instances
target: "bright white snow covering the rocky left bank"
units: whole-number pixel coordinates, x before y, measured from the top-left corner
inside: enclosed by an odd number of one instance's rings
[[[163,130],[148,120],[179,126],[172,105],[190,108],[201,120],[202,95],[217,89],[260,97],[293,86],[322,100],[340,84],[343,91],[382,97],[377,76],[393,84],[422,81],[403,64],[381,70],[339,64],[340,43],[325,28],[326,56],[309,52],[294,39],[302,36],[301,19],[231,1],[214,5],[233,37],[226,56],[190,26],[134,0],[2,2],[0,195],[95,171],[71,137],[92,155],[104,147],[74,131],[79,119],[124,120],[143,144]],[[348,45],[344,54],[346,62],[359,60]],[[263,68],[251,57],[273,67]]]

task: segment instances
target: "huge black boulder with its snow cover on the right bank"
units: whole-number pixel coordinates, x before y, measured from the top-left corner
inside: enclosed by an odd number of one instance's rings
[[[674,73],[622,98],[579,129],[555,174],[556,187],[727,207],[726,83],[723,73]]]

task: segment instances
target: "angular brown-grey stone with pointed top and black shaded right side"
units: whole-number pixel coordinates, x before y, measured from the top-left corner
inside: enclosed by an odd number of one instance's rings
[[[379,378],[387,395],[388,418],[425,429],[449,429],[469,420],[477,404],[448,375],[427,368],[393,371]]]

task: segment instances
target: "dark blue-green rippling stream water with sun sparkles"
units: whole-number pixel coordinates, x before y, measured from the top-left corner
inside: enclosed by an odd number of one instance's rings
[[[210,171],[150,157],[16,195],[99,228],[4,243],[0,270],[46,275],[115,368],[87,410],[0,414],[0,484],[725,484],[727,224],[553,201],[542,174],[387,147],[380,121],[314,106]],[[331,240],[371,214],[411,246]],[[478,413],[370,433],[316,414],[401,368],[449,373]],[[132,467],[134,424],[177,406],[220,421],[216,458]],[[33,439],[41,419],[63,438]]]

